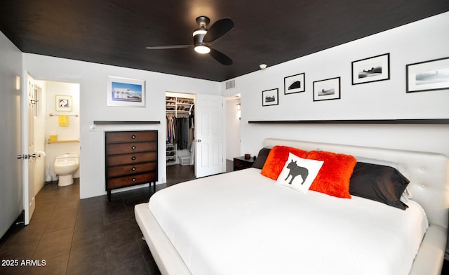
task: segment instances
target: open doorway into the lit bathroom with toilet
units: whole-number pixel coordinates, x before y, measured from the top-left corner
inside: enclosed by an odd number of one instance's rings
[[[39,87],[39,119],[35,123],[36,151],[45,152],[45,162],[36,166],[36,193],[44,184],[58,183],[54,163],[58,156],[80,156],[80,84],[35,80]],[[78,166],[79,167],[79,166]],[[71,177],[79,183],[79,168]],[[60,185],[62,186],[62,185]]]

